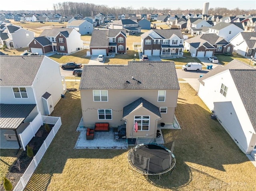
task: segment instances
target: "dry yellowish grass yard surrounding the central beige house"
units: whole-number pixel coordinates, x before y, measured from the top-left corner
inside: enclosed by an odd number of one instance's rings
[[[160,179],[147,181],[129,169],[128,150],[74,150],[82,116],[79,91],[66,93],[52,116],[61,116],[62,126],[26,191],[256,190],[256,168],[188,84],[180,84],[176,108],[182,129],[162,130],[167,148],[175,141],[176,168]]]

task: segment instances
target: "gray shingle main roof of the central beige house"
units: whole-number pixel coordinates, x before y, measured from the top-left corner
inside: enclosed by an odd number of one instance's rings
[[[180,89],[180,87],[174,62],[170,61],[128,62],[128,65],[85,65],[79,89]]]

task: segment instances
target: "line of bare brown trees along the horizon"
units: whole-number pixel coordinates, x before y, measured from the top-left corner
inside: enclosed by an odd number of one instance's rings
[[[169,8],[156,9],[154,7],[141,7],[140,9],[134,9],[132,6],[129,7],[109,7],[107,5],[96,5],[92,3],[85,2],[62,2],[58,4],[53,4],[54,13],[59,13],[62,16],[76,16],[77,14],[82,14],[82,16],[95,16],[98,13],[105,15],[114,14],[152,14],[152,13],[164,13],[168,14],[170,11],[171,14],[201,14],[202,9],[191,9],[191,10],[182,10],[178,8],[176,10],[171,10]],[[256,14],[256,10],[240,10],[238,7],[232,10],[227,8],[210,8],[208,10],[208,15],[222,15],[222,16],[236,16],[243,14]]]

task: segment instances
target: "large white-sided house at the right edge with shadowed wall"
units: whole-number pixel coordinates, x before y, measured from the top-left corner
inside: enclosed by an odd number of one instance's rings
[[[256,150],[256,70],[238,60],[199,79],[198,96],[245,154]]]

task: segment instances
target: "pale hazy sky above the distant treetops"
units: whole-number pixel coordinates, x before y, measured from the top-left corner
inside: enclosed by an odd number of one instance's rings
[[[140,9],[142,6],[157,9],[175,10],[180,8],[202,9],[204,2],[209,2],[209,8],[224,7],[232,10],[236,7],[243,10],[256,9],[256,0],[1,0],[0,10],[53,10],[53,4],[58,2],[86,2],[93,4],[104,4],[109,7],[129,7]]]

